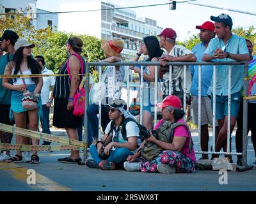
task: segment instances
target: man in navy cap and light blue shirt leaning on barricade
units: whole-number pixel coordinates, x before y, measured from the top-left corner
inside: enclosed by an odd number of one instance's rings
[[[214,32],[218,38],[210,41],[202,61],[232,62],[248,61],[248,49],[244,38],[232,34],[232,18],[222,13],[218,17],[211,16],[214,21]],[[236,124],[237,113],[240,103],[240,91],[243,87],[243,66],[231,66],[231,103],[230,103],[230,133]],[[227,129],[228,129],[228,66],[216,66],[216,119],[220,127],[218,140],[216,141],[216,152],[221,148],[227,151]],[[213,103],[211,82],[211,102]],[[231,142],[230,142],[231,144]],[[231,150],[231,149],[230,149]],[[218,157],[214,155],[213,157]],[[231,156],[228,156],[232,159]]]

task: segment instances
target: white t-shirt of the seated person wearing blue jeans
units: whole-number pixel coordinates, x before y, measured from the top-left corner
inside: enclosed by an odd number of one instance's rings
[[[106,135],[110,131],[111,122],[112,122],[112,120],[109,122],[107,128],[105,129]],[[137,136],[137,137],[140,136],[140,129],[139,129],[139,127],[137,126],[137,124],[135,122],[133,122],[133,121],[127,122],[125,128],[126,128],[126,136],[127,136],[127,138],[129,138],[131,136]],[[122,136],[121,129],[122,129],[122,127],[120,127],[119,133],[116,134],[116,131],[115,131],[115,128],[114,128],[113,132],[109,134],[109,136],[112,136],[112,142],[114,140],[114,136],[118,136],[118,142],[120,142],[120,143],[126,143],[127,142],[126,140],[124,140],[124,138]]]

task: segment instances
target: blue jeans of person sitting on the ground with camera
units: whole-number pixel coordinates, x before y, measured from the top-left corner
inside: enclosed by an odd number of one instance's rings
[[[96,145],[92,145],[90,147],[90,154],[91,154],[93,160],[95,162],[97,162],[98,164],[100,163],[100,161],[103,161],[102,159],[99,158],[99,154],[97,152]],[[122,164],[126,161],[126,158],[129,155],[132,155],[132,154],[133,153],[129,149],[124,148],[124,147],[120,147],[120,148],[117,148],[115,150],[111,150],[107,161],[108,162],[113,161],[113,162],[115,162],[115,164]]]

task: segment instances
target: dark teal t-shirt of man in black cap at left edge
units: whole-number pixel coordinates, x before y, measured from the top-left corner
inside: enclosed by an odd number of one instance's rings
[[[0,75],[4,74],[4,69],[9,61],[13,60],[14,54],[5,54],[0,57]],[[12,90],[5,89],[2,85],[3,78],[0,78],[0,104],[11,105]],[[12,84],[12,80],[10,80]]]

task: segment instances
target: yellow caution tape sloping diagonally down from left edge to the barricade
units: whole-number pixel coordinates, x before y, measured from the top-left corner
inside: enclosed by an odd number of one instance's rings
[[[76,147],[87,148],[87,143],[80,142],[78,140],[72,140],[68,138],[63,138],[61,136],[50,135],[46,133],[40,133],[37,131],[32,131],[29,129],[17,128],[15,126],[9,126],[3,123],[0,123],[0,131],[7,133],[13,133],[20,136],[26,136],[29,138],[35,138],[39,140],[45,140],[47,142],[56,142],[61,143],[62,145],[72,145]]]

